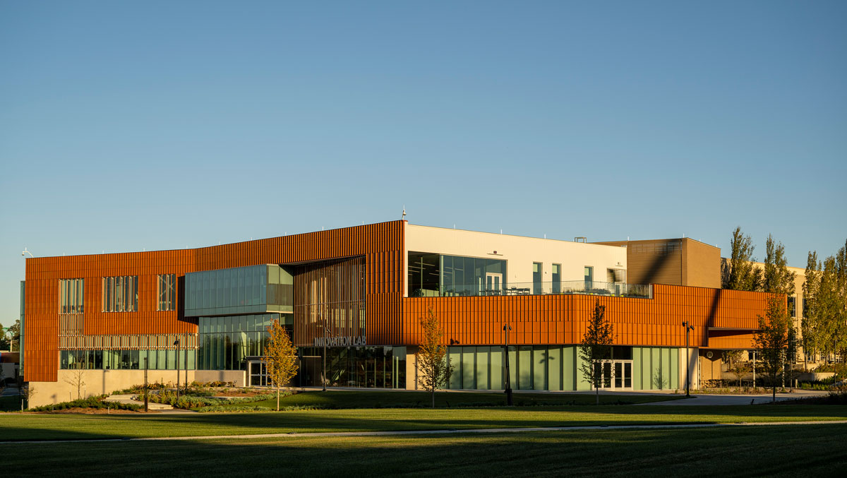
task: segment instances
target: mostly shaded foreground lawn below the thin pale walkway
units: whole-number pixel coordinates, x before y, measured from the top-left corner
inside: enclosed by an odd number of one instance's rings
[[[3,446],[3,473],[838,476],[847,466],[844,442],[847,425],[25,443]]]

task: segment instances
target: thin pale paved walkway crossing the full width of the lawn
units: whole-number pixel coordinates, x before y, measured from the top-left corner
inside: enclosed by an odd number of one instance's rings
[[[242,440],[257,438],[296,438],[301,436],[409,436],[409,435],[452,435],[459,433],[525,433],[531,431],[588,431],[588,430],[656,430],[677,428],[715,428],[719,426],[773,426],[773,425],[835,425],[847,424],[847,420],[823,421],[777,421],[757,423],[702,423],[688,425],[599,425],[599,426],[539,426],[533,428],[474,428],[466,430],[405,430],[405,431],[326,431],[307,433],[266,433],[258,435],[208,435],[208,436],[161,436],[155,438],[102,438],[95,440],[45,440],[14,443],[67,443],[67,442],[168,442],[191,440]]]

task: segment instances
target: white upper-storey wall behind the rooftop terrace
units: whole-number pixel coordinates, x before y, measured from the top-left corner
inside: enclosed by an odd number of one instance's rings
[[[532,282],[534,262],[544,264],[543,282],[552,281],[553,264],[562,264],[562,281],[582,281],[584,267],[589,266],[594,267],[594,280],[605,282],[607,269],[627,267],[627,249],[619,246],[411,224],[406,225],[405,236],[406,257],[416,252],[506,260],[507,283]],[[408,261],[405,264],[403,276],[407,277]],[[407,281],[403,283],[407,287]]]

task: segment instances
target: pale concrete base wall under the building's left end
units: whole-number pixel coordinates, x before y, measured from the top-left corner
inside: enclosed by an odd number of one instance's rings
[[[147,381],[176,383],[176,370],[148,370]],[[102,395],[144,383],[144,370],[58,370],[57,381],[30,381],[30,407],[68,402],[77,398],[76,379],[80,374],[80,397]],[[188,370],[188,381],[195,381],[195,371]],[[180,370],[180,384],[185,383],[185,370]]]

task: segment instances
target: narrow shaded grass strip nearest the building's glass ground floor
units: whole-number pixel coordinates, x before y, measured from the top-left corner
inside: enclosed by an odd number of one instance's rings
[[[514,403],[518,406],[562,406],[594,405],[595,396],[584,393],[515,393]],[[634,403],[677,400],[684,395],[613,395],[601,394],[600,403],[609,405],[631,405]],[[251,405],[276,409],[276,397]],[[437,392],[436,407],[494,407],[506,404],[502,392]],[[432,397],[428,392],[369,392],[333,391],[301,392],[280,398],[280,407],[322,407],[325,409],[385,409],[431,407]]]

